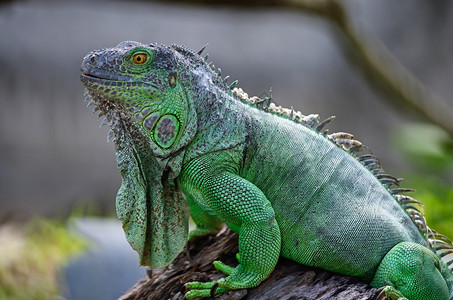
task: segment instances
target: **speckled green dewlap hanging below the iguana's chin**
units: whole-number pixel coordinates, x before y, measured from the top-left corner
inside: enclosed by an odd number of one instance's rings
[[[119,138],[116,155],[123,181],[116,198],[118,217],[140,265],[164,267],[187,242],[189,208],[151,149],[127,133]]]

